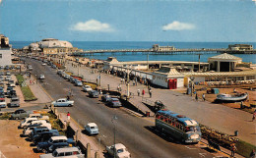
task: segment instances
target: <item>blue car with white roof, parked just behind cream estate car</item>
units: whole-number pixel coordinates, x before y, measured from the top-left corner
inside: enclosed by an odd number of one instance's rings
[[[48,141],[38,142],[36,147],[38,151],[43,151],[43,150],[47,151],[52,144],[57,144],[60,142],[67,142],[73,145],[75,144],[75,141],[73,140],[73,138],[67,138],[67,136],[59,135],[59,136],[52,136]]]

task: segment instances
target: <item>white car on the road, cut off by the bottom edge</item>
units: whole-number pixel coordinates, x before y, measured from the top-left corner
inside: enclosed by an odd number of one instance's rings
[[[122,143],[106,146],[105,149],[111,156],[118,158],[131,158],[130,152],[127,151],[127,148]]]

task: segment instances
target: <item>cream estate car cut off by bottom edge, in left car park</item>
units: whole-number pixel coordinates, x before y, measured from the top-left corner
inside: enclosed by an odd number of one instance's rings
[[[84,158],[85,154],[82,154],[82,152],[78,147],[66,147],[66,148],[58,148],[49,154],[40,155],[40,158],[53,158],[53,157]]]

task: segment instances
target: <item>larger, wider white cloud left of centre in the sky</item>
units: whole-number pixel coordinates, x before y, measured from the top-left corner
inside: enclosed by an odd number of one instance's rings
[[[89,31],[89,32],[108,32],[108,31],[114,31],[114,29],[105,23],[98,22],[96,20],[90,20],[87,22],[79,22],[74,26],[71,26],[72,30],[80,30],[80,31]]]

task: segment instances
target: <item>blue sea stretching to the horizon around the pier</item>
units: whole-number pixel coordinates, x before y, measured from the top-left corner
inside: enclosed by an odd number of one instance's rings
[[[13,48],[23,48],[30,45],[32,41],[10,41]],[[96,49],[149,49],[154,44],[160,46],[174,46],[175,48],[227,48],[229,44],[251,44],[256,48],[256,42],[170,42],[170,41],[71,41],[74,47],[84,50]],[[201,52],[200,52],[201,53]],[[149,55],[150,61],[189,61],[198,62],[199,55],[178,54],[178,55]],[[219,55],[219,53],[202,53],[201,62],[208,62],[208,58]],[[256,54],[233,54],[242,58],[243,62],[256,64]],[[118,61],[147,61],[146,53],[95,53],[86,55],[91,59],[106,60],[107,57],[116,57]]]

